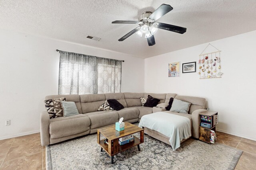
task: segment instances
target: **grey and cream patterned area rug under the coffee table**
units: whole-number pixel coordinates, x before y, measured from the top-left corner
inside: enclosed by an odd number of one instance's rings
[[[137,135],[136,135],[137,136]],[[226,145],[210,145],[188,139],[176,151],[148,135],[140,150],[133,147],[110,156],[97,144],[97,134],[87,135],[46,147],[46,168],[48,170],[233,170],[242,154]]]

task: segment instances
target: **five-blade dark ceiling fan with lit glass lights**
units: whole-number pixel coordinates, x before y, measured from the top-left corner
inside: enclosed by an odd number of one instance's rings
[[[145,38],[147,38],[148,40],[148,45],[152,46],[156,44],[154,34],[158,30],[158,28],[180,34],[185,33],[187,29],[184,27],[156,22],[156,20],[170,12],[172,9],[173,8],[170,5],[162,4],[153,13],[150,11],[144,12],[140,16],[139,21],[113,21],[112,23],[135,23],[140,25],[132,31],[128,32],[122,38],[118,39],[118,41],[124,41],[126,38],[130,37],[134,33],[136,33],[140,37],[142,37],[143,33],[145,33]]]

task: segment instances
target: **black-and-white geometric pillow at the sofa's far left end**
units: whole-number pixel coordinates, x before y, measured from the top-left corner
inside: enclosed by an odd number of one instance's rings
[[[63,109],[60,102],[65,100],[66,98],[44,100],[44,105],[46,111],[49,113],[50,119],[63,116]]]

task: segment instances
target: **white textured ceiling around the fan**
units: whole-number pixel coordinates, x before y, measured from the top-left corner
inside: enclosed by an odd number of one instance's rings
[[[118,39],[144,11],[174,9],[159,22],[186,27],[184,34],[159,29],[156,45],[134,34]],[[256,30],[255,0],[0,0],[0,29],[46,36],[147,58]],[[87,39],[100,37],[100,41]]]

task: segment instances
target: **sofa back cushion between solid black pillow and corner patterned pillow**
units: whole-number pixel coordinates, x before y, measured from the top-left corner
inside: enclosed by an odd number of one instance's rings
[[[144,93],[124,93],[127,107],[141,106],[140,98],[144,97]]]

